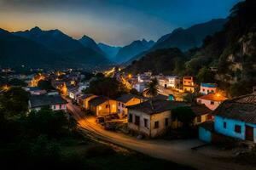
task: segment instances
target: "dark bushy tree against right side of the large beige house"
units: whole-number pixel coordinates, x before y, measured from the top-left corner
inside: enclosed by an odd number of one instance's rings
[[[195,113],[189,106],[172,109],[172,119],[183,122],[183,127],[187,128],[195,119]]]

